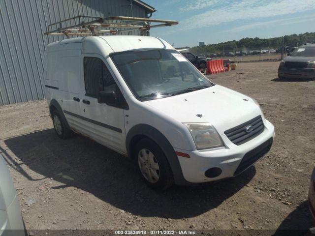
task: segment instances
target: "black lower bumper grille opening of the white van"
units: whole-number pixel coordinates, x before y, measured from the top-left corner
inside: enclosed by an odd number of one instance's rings
[[[273,142],[273,138],[268,139],[263,144],[259,145],[257,148],[252,149],[251,151],[247,152],[243,157],[241,163],[237,167],[236,171],[234,172],[234,176],[245,171],[249,168],[253,163],[255,163],[258,159],[263,157],[271,148]]]

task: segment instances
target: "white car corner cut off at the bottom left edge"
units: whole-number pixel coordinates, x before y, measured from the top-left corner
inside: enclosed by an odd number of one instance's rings
[[[19,200],[9,169],[0,155],[0,236],[26,236]]]

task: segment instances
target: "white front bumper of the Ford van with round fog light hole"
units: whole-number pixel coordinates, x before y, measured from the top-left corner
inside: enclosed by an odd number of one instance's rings
[[[242,144],[233,144],[225,135],[223,142],[228,148],[187,151],[175,148],[175,151],[189,154],[190,158],[178,156],[184,178],[191,183],[215,181],[234,177],[252,166],[265,155],[275,136],[274,126],[265,120],[265,129],[254,139]],[[245,160],[246,159],[246,160]],[[217,177],[206,177],[210,168],[220,168]]]

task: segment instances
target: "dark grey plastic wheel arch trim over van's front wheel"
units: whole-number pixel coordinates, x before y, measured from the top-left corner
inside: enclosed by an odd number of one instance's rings
[[[190,183],[184,178],[182,168],[174,148],[166,137],[158,129],[147,124],[138,124],[132,127],[126,135],[126,150],[129,158],[134,158],[133,148],[142,138],[149,138],[154,141],[164,152],[168,163],[171,167],[174,182],[179,185],[189,185]]]

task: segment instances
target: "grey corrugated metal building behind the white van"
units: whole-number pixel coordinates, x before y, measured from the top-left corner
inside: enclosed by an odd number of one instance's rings
[[[46,46],[65,38],[44,35],[47,25],[77,15],[149,18],[153,12],[141,0],[0,0],[0,105],[44,98]]]

